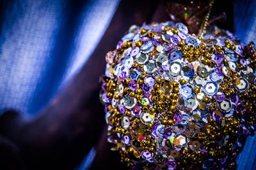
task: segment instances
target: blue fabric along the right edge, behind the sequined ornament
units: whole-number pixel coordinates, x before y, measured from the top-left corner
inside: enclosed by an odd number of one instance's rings
[[[256,43],[256,1],[235,1],[234,21],[236,34],[243,43]],[[256,169],[256,136],[246,140],[243,152],[237,162],[237,169]]]

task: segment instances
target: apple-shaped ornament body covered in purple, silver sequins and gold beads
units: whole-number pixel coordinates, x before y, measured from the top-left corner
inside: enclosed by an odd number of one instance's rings
[[[214,28],[132,25],[100,78],[108,141],[130,169],[233,169],[255,131],[256,54]]]

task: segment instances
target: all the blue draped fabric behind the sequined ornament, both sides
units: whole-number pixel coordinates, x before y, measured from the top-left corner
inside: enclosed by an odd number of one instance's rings
[[[2,1],[0,110],[13,108],[27,117],[42,110],[90,57],[119,3],[120,0]],[[255,8],[253,0],[234,3],[235,32],[244,43],[256,41]],[[256,169],[255,147],[252,136],[237,169]],[[81,169],[88,167],[93,155],[92,150]]]

